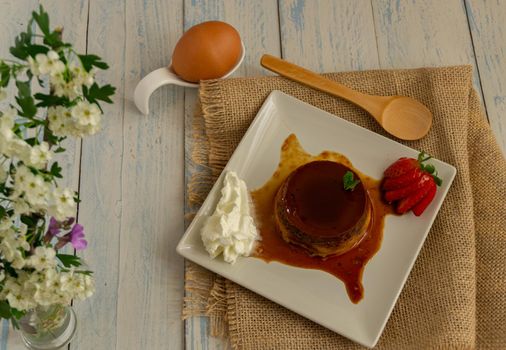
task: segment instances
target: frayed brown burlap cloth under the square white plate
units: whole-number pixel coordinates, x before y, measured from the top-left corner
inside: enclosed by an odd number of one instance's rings
[[[403,142],[453,164],[457,176],[395,306],[378,349],[506,348],[506,161],[468,66],[326,75],[369,94],[412,96],[434,113],[422,140]],[[362,110],[280,77],[206,81],[194,125],[197,208],[272,90],[377,133]],[[337,150],[338,151],[338,150]],[[207,315],[236,349],[360,346],[230,281],[188,264],[184,316]]]

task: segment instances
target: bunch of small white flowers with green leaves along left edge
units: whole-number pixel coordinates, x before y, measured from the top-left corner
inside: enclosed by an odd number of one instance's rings
[[[78,194],[58,185],[62,168],[52,159],[65,152],[67,137],[100,129],[100,103],[112,103],[115,88],[97,84],[97,70],[108,65],[64,42],[42,7],[10,53],[14,60],[0,59],[0,318],[18,327],[34,310],[48,313],[94,292],[92,272],[60,251],[85,249],[87,241],[75,219]],[[37,332],[30,320],[21,325]]]

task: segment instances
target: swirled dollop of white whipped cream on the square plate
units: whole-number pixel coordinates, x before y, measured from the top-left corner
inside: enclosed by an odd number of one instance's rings
[[[258,231],[250,215],[246,183],[233,171],[225,175],[221,198],[201,231],[202,241],[212,258],[223,253],[233,264],[239,256],[249,256],[258,240]]]

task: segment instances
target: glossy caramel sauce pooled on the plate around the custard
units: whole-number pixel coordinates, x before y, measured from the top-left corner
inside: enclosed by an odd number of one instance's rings
[[[304,248],[285,242],[275,224],[274,200],[283,181],[298,167],[317,160],[330,160],[351,168],[360,177],[372,203],[372,221],[364,238],[352,250],[339,256],[312,256]],[[343,281],[350,300],[358,303],[364,296],[362,274],[365,265],[379,250],[385,216],[392,213],[391,207],[381,200],[379,187],[380,181],[354,168],[344,155],[324,151],[312,156],[304,151],[294,134],[288,136],[281,147],[278,168],[261,188],[251,192],[257,227],[262,238],[253,256],[266,262],[277,261],[328,272]]]

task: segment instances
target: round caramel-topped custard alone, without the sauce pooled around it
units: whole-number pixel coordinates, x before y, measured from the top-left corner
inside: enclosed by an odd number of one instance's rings
[[[274,213],[283,239],[311,255],[353,249],[371,223],[371,201],[362,182],[345,190],[346,165],[319,160],[293,171],[277,192]]]

